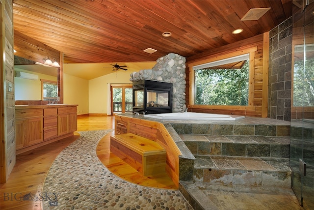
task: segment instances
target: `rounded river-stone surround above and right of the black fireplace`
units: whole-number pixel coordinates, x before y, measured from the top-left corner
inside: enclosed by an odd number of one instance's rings
[[[130,81],[156,80],[173,84],[172,111],[185,110],[185,58],[174,53],[157,59],[152,69],[131,73]]]

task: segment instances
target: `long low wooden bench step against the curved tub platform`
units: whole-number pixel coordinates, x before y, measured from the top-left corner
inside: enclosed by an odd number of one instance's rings
[[[153,140],[132,133],[111,136],[110,151],[144,176],[165,172],[166,150]]]

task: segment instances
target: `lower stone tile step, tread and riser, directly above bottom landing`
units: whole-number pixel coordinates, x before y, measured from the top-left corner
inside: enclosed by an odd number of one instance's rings
[[[193,180],[247,187],[291,186],[288,158],[196,156]]]

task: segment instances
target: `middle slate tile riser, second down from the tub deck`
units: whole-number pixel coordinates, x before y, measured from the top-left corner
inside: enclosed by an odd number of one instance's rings
[[[290,154],[288,144],[238,144],[189,141],[184,141],[184,143],[193,155],[288,158]]]

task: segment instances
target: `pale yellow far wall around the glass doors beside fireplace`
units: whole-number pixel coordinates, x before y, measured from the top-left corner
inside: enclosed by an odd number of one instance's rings
[[[130,73],[130,71],[117,71],[89,80],[89,113],[107,114],[107,84],[131,84]]]

